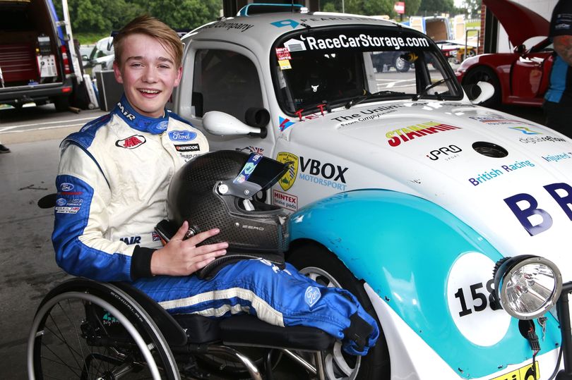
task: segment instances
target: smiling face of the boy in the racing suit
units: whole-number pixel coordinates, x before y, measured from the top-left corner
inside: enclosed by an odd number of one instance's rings
[[[173,54],[148,35],[129,35],[123,46],[121,62],[113,63],[115,79],[123,84],[129,104],[138,113],[161,117],[181,80],[179,62],[174,62]]]

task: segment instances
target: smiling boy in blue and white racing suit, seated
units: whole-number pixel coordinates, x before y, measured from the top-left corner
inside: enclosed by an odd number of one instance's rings
[[[346,290],[260,260],[199,279],[193,273],[224,255],[228,244],[196,247],[219,231],[185,240],[186,221],[162,246],[153,229],[167,217],[169,182],[186,161],[208,152],[208,142],[165,109],[182,71],[182,44],[173,30],[141,16],[114,38],[114,49],[124,96],[109,115],[61,144],[52,235],[59,266],[97,281],[131,281],[171,313],[250,312],[278,326],[317,327],[340,339],[347,353],[365,355],[379,329]]]

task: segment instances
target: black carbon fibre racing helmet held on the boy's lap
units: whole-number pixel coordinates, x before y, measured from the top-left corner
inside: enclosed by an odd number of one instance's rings
[[[220,228],[202,244],[228,242],[223,262],[262,257],[283,264],[286,214],[280,207],[254,200],[254,195],[270,188],[287,168],[288,164],[261,154],[232,150],[195,157],[169,185],[169,221],[173,226],[189,221],[189,235]]]

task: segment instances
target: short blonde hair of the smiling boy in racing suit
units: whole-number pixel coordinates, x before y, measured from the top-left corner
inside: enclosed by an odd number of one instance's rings
[[[115,61],[121,66],[121,54],[123,53],[123,44],[125,38],[130,35],[141,34],[153,37],[160,42],[165,50],[173,54],[174,63],[179,68],[183,59],[183,43],[177,32],[157,18],[143,15],[133,18],[127,25],[119,30],[119,33],[113,38],[113,48],[115,52]]]

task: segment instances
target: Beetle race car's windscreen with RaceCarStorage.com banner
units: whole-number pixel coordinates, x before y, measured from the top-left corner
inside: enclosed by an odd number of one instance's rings
[[[270,63],[278,102],[290,115],[351,106],[358,99],[463,96],[436,44],[403,27],[306,28],[278,39]]]

